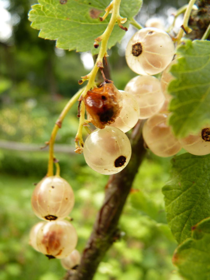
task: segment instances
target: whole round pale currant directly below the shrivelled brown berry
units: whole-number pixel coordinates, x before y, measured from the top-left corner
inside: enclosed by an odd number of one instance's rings
[[[101,174],[115,174],[128,164],[130,141],[122,130],[106,126],[95,129],[85,140],[83,153],[86,163]]]

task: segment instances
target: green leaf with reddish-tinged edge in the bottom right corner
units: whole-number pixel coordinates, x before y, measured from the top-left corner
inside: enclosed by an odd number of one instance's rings
[[[179,273],[189,280],[210,279],[210,232],[209,218],[197,224],[192,231],[192,238],[178,246],[172,261],[179,269]],[[202,229],[204,231],[202,231]],[[202,233],[202,237],[194,238],[194,231]]]

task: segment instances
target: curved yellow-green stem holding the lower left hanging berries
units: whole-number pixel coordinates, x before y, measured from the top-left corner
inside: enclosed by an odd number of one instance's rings
[[[78,100],[81,93],[83,92],[83,89],[84,88],[80,88],[80,90],[78,90],[78,92],[76,94],[74,94],[74,96],[69,100],[69,102],[64,107],[63,111],[61,112],[59,118],[57,119],[57,121],[53,127],[53,130],[52,130],[52,133],[50,136],[50,141],[49,141],[49,160],[48,160],[48,171],[47,171],[46,176],[53,176],[54,143],[55,143],[55,137],[57,135],[57,132],[58,132],[59,128],[61,128],[62,122],[63,122],[66,114],[71,109],[73,104]]]

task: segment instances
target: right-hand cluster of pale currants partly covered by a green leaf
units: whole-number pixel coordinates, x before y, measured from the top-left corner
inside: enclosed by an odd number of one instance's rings
[[[154,25],[154,22],[150,21],[148,25]],[[139,118],[147,119],[143,138],[148,148],[160,157],[175,155],[182,147],[194,155],[210,153],[210,125],[203,127],[197,135],[179,140],[167,125],[167,104],[172,98],[167,87],[174,78],[170,73],[171,66],[177,62],[172,60],[174,44],[171,37],[162,29],[143,28],[130,39],[125,57],[128,66],[141,75],[131,79],[125,91],[136,97],[140,107]],[[150,76],[161,72],[160,81]]]

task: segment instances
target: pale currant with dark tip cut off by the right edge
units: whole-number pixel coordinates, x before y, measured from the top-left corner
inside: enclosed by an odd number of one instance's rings
[[[192,155],[208,155],[210,153],[210,128],[203,128],[196,135],[191,134],[179,139],[179,143]]]

